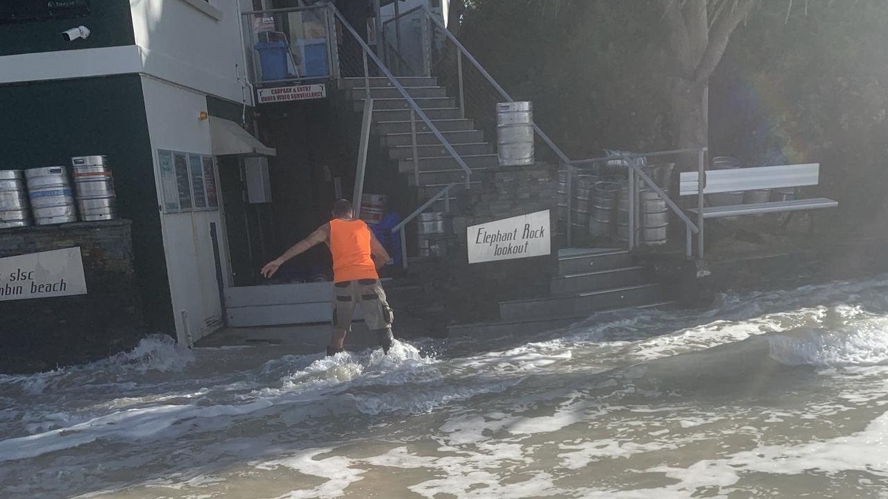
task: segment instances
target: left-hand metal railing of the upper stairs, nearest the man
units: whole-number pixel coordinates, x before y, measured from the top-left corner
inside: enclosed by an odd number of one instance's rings
[[[344,28],[345,32],[347,32],[347,34],[349,36],[351,36],[350,39],[353,40],[354,43],[358,44],[358,46],[361,47],[361,59],[362,59],[361,63],[363,66],[364,91],[366,92],[366,100],[365,100],[365,105],[364,105],[364,115],[363,115],[362,126],[361,126],[361,151],[359,152],[359,158],[358,158],[358,171],[357,171],[358,176],[357,176],[357,178],[355,178],[355,184],[356,184],[355,195],[356,195],[356,197],[358,197],[359,199],[361,197],[361,194],[358,193],[358,186],[359,185],[361,186],[360,187],[361,191],[363,190],[364,176],[365,176],[366,166],[367,166],[366,165],[366,162],[367,162],[366,145],[367,145],[367,141],[369,140],[369,123],[372,121],[372,114],[373,114],[373,108],[374,108],[373,107],[373,99],[370,94],[370,73],[371,73],[371,67],[369,65],[370,61],[373,62],[373,64],[376,66],[377,70],[380,73],[382,73],[382,75],[385,75],[385,77],[388,78],[389,82],[392,83],[392,86],[394,88],[398,89],[400,95],[407,101],[408,107],[410,108],[410,135],[411,135],[411,147],[413,149],[413,152],[412,152],[412,154],[413,154],[413,171],[414,171],[414,178],[416,179],[416,186],[419,187],[419,159],[418,159],[418,150],[417,150],[417,144],[416,144],[416,116],[419,116],[419,118],[423,121],[423,123],[425,123],[425,126],[428,127],[428,130],[432,131],[432,134],[434,134],[436,139],[440,140],[441,145],[444,146],[444,148],[447,150],[448,154],[450,154],[450,156],[456,160],[457,164],[459,164],[460,168],[463,169],[465,186],[466,186],[466,188],[470,188],[472,186],[472,183],[471,183],[472,170],[465,163],[462,156],[460,156],[459,153],[456,152],[456,149],[454,149],[454,147],[450,144],[448,139],[446,139],[444,137],[444,135],[441,134],[441,132],[438,130],[438,127],[436,127],[435,124],[432,123],[432,120],[429,119],[428,115],[425,114],[423,109],[421,107],[419,107],[418,104],[416,104],[416,100],[414,100],[412,97],[410,97],[410,94],[404,88],[404,86],[400,84],[400,82],[398,81],[398,79],[394,75],[392,75],[392,72],[389,70],[389,68],[386,67],[385,64],[370,49],[369,45],[366,42],[364,42],[363,39],[361,39],[361,36],[359,36],[358,33],[354,30],[354,28],[348,23],[348,21],[345,20],[345,18],[337,10],[337,8],[333,4],[328,4],[328,6],[330,9],[330,12],[333,13],[333,16],[335,17],[335,19],[337,19],[340,22],[340,24],[342,25],[342,28]],[[345,34],[343,34],[343,36],[345,36]],[[343,56],[344,56],[344,54],[342,53],[342,51],[340,51],[338,59],[340,61],[345,61],[346,58]],[[340,75],[342,75],[342,74],[340,73]],[[419,208],[414,210],[413,213],[408,215],[407,218],[404,218],[403,220],[401,220],[400,224],[398,224],[397,226],[394,226],[392,228],[392,234],[396,234],[396,233],[400,232],[401,262],[402,262],[402,265],[404,268],[407,268],[407,266],[408,266],[407,232],[404,230],[404,227],[407,226],[407,224],[410,223],[411,221],[413,221],[416,217],[418,217],[420,213],[424,212],[430,206],[432,206],[432,203],[437,202],[438,200],[440,200],[442,198],[444,200],[444,210],[450,211],[449,193],[450,193],[450,190],[455,186],[456,186],[456,183],[451,183],[448,186],[445,186],[437,194],[434,194],[431,199],[424,202]]]

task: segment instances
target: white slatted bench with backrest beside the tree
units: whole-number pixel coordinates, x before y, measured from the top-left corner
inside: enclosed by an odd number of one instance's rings
[[[755,189],[779,189],[782,187],[816,186],[820,181],[820,163],[786,164],[733,170],[708,170],[705,172],[703,194],[730,193]],[[688,171],[679,178],[679,194],[699,194],[698,173]],[[838,202],[825,197],[796,199],[792,201],[758,202],[733,206],[705,206],[690,211],[696,215],[702,210],[702,218],[739,217],[762,213],[781,213],[799,210],[835,208]]]

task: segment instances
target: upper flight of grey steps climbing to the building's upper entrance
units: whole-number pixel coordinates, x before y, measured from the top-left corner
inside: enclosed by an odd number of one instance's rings
[[[447,89],[438,85],[437,78],[409,76],[398,78],[398,82],[472,170],[472,185],[480,185],[481,180],[496,169],[496,144],[486,141],[484,132],[475,129],[474,121],[462,116],[456,107],[456,99],[448,97]],[[407,99],[388,78],[373,77],[369,83],[374,101],[371,132],[385,147],[389,158],[397,162],[398,171],[406,176],[408,186],[416,188],[418,199],[431,198],[451,182],[464,182],[465,172],[459,163],[448,154],[428,125],[416,116],[417,185]],[[353,102],[356,112],[363,111],[367,97],[363,78],[345,78],[341,80],[340,89],[345,93],[345,99]],[[450,191],[451,200],[461,188],[465,188],[464,184]],[[443,201],[436,203],[432,210],[443,210],[442,204]]]

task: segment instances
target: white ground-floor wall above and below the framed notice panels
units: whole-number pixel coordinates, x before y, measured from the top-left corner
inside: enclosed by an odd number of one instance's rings
[[[142,76],[142,88],[159,189],[158,149],[212,154],[210,123],[198,119],[200,112],[206,110],[206,96],[148,76]],[[158,199],[162,199],[160,193]],[[222,205],[221,199],[219,205]],[[218,325],[222,320],[210,239],[210,223],[213,222],[217,226],[223,279],[227,286],[228,255],[221,211],[161,215],[176,331],[178,341],[183,344],[187,344],[183,310],[187,312],[187,331],[193,341],[210,334],[215,329],[212,325]]]

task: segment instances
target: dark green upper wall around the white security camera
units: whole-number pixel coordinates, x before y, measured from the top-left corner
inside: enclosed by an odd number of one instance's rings
[[[81,25],[90,28],[89,38],[62,40],[63,31]],[[0,25],[0,56],[133,45],[135,40],[129,0],[91,0],[87,16]]]

